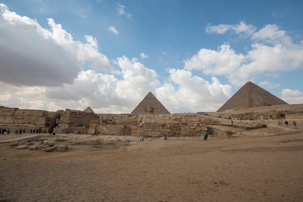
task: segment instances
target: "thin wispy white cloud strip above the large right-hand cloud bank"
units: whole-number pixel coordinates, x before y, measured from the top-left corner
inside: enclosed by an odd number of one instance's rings
[[[256,29],[257,28],[255,26],[251,24],[247,25],[246,22],[243,21],[236,25],[211,25],[211,23],[208,23],[205,27],[205,31],[208,33],[225,34],[227,31],[230,31],[241,36],[250,36],[256,31]]]

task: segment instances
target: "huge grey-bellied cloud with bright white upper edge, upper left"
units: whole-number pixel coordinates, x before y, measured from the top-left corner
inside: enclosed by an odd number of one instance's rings
[[[60,86],[72,84],[84,64],[96,70],[118,73],[108,58],[98,52],[96,38],[85,35],[85,43],[48,18],[50,29],[35,19],[0,8],[0,80],[12,85]]]

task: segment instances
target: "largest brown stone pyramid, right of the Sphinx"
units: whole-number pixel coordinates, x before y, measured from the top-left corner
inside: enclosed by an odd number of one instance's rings
[[[225,102],[217,112],[278,104],[287,103],[275,95],[270,94],[270,92],[265,91],[256,84],[248,81],[227,102]]]

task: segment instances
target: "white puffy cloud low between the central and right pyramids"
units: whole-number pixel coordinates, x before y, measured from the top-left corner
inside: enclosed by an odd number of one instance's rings
[[[157,98],[171,113],[216,111],[232,95],[232,87],[213,77],[212,83],[184,69],[168,69],[169,81],[156,88]]]

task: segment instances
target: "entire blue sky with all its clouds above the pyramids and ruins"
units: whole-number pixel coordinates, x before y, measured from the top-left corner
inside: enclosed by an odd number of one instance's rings
[[[0,106],[216,111],[251,81],[303,103],[302,1],[0,0]]]

